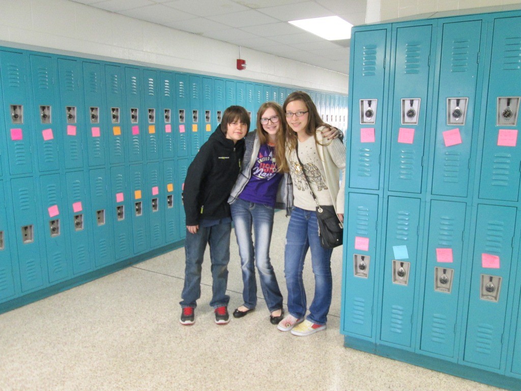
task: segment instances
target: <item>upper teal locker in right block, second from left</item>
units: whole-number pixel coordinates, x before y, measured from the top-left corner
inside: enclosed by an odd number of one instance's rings
[[[389,190],[421,192],[432,26],[396,29]],[[392,59],[391,59],[392,62]]]

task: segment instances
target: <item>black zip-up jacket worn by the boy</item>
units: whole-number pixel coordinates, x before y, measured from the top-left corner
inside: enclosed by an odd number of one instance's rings
[[[184,180],[183,202],[187,225],[201,219],[230,217],[228,197],[240,172],[244,139],[233,144],[221,126],[212,133],[190,166]]]

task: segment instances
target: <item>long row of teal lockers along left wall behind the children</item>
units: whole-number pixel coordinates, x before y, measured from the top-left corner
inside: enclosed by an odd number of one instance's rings
[[[182,246],[188,165],[225,108],[253,130],[295,90],[6,47],[0,81],[0,312]],[[345,129],[346,96],[308,92]]]

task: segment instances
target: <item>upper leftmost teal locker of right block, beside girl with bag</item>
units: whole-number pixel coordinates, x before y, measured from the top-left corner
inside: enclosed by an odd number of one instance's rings
[[[380,187],[381,145],[386,134],[382,115],[387,103],[383,102],[386,37],[387,30],[355,33],[352,62],[356,77],[351,81],[351,104],[356,113],[351,117],[349,154],[349,186],[352,188],[377,190]]]

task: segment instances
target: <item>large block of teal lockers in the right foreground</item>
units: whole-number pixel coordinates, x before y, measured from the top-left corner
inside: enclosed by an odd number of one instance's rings
[[[520,389],[520,13],[352,36],[345,345]]]

